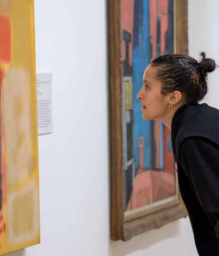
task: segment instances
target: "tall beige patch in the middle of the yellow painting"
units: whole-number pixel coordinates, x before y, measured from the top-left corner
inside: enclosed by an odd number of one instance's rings
[[[33,156],[29,72],[9,70],[3,86],[7,178],[15,183],[24,181],[37,167]]]

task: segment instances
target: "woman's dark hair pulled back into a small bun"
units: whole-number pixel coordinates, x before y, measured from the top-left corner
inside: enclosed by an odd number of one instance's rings
[[[151,65],[158,67],[156,79],[162,82],[161,93],[166,95],[178,90],[186,103],[201,101],[208,92],[208,73],[213,72],[217,65],[214,60],[205,58],[205,52],[201,52],[200,56],[200,62],[183,54],[166,54],[155,58]]]

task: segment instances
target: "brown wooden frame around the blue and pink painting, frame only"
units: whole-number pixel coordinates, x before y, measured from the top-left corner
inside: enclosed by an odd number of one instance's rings
[[[187,0],[174,1],[174,51],[188,54]],[[109,80],[111,136],[111,238],[127,241],[132,236],[161,227],[187,216],[177,187],[177,198],[171,202],[126,215],[124,202],[123,148],[123,77],[121,58],[121,0],[108,0]],[[146,67],[145,67],[146,68]],[[142,74],[143,76],[143,74]]]

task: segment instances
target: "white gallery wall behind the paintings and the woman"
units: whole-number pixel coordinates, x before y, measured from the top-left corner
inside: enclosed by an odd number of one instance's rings
[[[112,242],[106,0],[35,0],[36,72],[53,72],[39,136],[41,243],[8,256],[198,256],[188,218]],[[219,63],[219,1],[189,0],[189,54]],[[219,69],[206,102],[219,108]]]

